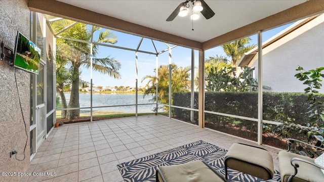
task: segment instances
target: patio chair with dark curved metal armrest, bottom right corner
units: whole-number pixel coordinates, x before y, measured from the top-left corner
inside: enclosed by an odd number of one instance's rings
[[[324,170],[324,167],[315,164],[315,159],[289,152],[292,145],[291,141],[300,142],[315,149],[324,150],[324,148],[316,147],[302,141],[287,139],[286,143],[288,144],[288,150],[280,151],[278,154],[281,182],[324,181],[324,173],[321,171],[321,169]]]

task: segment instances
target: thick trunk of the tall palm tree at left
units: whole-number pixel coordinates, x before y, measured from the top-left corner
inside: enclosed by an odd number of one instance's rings
[[[74,66],[73,68],[73,77],[74,80],[72,81],[71,85],[71,96],[70,96],[70,102],[67,108],[79,108],[79,68],[78,66]],[[74,110],[67,110],[66,112],[66,118],[67,119],[76,119],[80,116],[80,110],[74,109]]]

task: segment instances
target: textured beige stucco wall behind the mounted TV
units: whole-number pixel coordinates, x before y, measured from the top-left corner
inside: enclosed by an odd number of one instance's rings
[[[24,0],[0,0],[0,40],[14,48],[19,30],[29,37],[30,12]],[[18,92],[15,82],[15,71],[7,61],[0,61],[0,172],[25,172],[29,166],[29,122],[30,122],[30,74],[16,70],[17,85],[23,116],[27,126],[27,135],[23,121]],[[24,152],[26,140],[27,147]],[[10,158],[10,151],[18,151]],[[0,181],[18,181],[18,176],[4,177]]]

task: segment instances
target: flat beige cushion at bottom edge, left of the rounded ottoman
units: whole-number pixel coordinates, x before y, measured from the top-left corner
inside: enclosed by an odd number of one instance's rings
[[[200,160],[179,165],[161,166],[159,169],[168,182],[224,182],[221,177]],[[163,181],[159,173],[158,180]]]

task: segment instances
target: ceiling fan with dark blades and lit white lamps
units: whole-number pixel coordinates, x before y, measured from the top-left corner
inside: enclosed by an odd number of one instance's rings
[[[210,19],[215,15],[213,10],[206,4],[204,0],[186,0],[183,3],[180,3],[180,5],[167,18],[167,21],[174,20],[177,15],[179,15],[180,17],[187,16],[189,14],[189,2],[192,3],[192,13],[190,16],[192,20],[199,18],[199,12],[203,14],[206,19]]]

